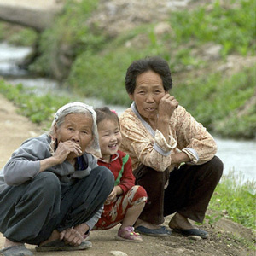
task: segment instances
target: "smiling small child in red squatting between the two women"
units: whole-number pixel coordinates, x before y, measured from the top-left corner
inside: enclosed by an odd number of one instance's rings
[[[133,224],[143,211],[147,192],[143,187],[135,186],[131,158],[119,150],[122,137],[117,114],[108,107],[96,108],[96,123],[102,152],[98,165],[113,172],[115,183],[94,230],[108,230],[121,223],[116,239],[141,242],[143,239],[134,232]]]

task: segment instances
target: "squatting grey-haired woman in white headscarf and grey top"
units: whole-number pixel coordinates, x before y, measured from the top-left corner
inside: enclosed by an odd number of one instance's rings
[[[113,174],[97,166],[96,113],[73,102],[55,113],[49,133],[22,143],[0,172],[1,255],[91,247],[84,237],[113,189]]]

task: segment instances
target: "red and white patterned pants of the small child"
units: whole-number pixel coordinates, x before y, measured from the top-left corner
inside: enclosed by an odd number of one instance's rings
[[[108,230],[122,222],[125,213],[131,207],[147,201],[147,192],[141,186],[133,186],[125,194],[119,195],[115,201],[104,205],[102,217],[93,230]]]

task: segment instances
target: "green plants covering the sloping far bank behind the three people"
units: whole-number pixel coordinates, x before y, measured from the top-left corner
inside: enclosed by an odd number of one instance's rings
[[[170,32],[160,35],[152,23],[115,38],[97,24],[88,26],[86,20],[97,5],[94,0],[68,0],[53,26],[41,35],[41,55],[31,70],[63,79],[63,86],[81,96],[129,106],[127,67],[145,55],[160,55],[172,70],[171,93],[195,119],[223,137],[255,137],[256,66],[235,74],[217,72],[214,60],[204,54],[209,45],[218,45],[223,63],[230,54],[255,56],[255,1],[215,1],[210,8],[172,12],[166,20]]]

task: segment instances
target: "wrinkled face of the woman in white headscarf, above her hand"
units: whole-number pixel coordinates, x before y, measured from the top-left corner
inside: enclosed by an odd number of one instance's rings
[[[68,140],[78,143],[81,147],[82,154],[92,142],[92,117],[90,114],[70,113],[65,117],[60,127],[55,125],[55,136],[57,142],[64,143]],[[74,157],[77,155],[74,154]]]

